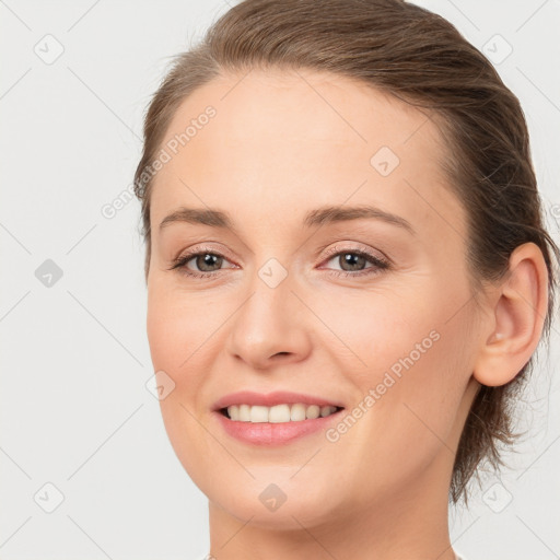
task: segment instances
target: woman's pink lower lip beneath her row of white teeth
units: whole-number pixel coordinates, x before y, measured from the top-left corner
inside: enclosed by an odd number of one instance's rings
[[[225,432],[245,443],[254,445],[282,445],[305,435],[324,430],[332,421],[337,421],[342,410],[332,415],[300,422],[238,422],[230,420],[221,412],[214,412]]]

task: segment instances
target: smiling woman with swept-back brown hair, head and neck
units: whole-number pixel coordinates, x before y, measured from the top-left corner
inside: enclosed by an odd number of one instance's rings
[[[560,255],[491,63],[402,1],[245,0],[177,57],[135,179],[210,555],[458,558]]]

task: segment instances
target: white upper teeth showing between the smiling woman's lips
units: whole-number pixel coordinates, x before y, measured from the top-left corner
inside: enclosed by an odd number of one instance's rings
[[[232,405],[228,407],[228,416],[238,422],[300,422],[305,419],[314,419],[319,416],[329,416],[337,407],[317,405],[276,405],[264,407],[260,405]]]

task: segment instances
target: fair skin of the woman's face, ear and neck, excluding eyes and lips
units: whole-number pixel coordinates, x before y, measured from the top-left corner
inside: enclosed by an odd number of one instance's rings
[[[148,336],[155,371],[175,383],[161,400],[171,443],[209,499],[211,553],[452,560],[458,439],[480,383],[508,383],[538,343],[547,304],[539,249],[517,247],[508,281],[488,285],[477,306],[465,211],[441,172],[439,128],[376,90],[303,70],[223,74],[183,102],[162,147],[208,105],[215,117],[154,180]],[[370,163],[383,145],[400,160],[387,176]],[[372,205],[415,233],[375,219],[304,228],[304,214],[324,205]],[[182,206],[229,212],[234,230],[174,222],[160,231]],[[201,269],[194,258],[188,268],[218,276],[170,269],[200,244],[224,259]],[[390,267],[349,268],[326,254],[335,246],[385,256]],[[276,288],[258,275],[270,258],[288,275]],[[366,269],[374,272],[351,276]],[[250,389],[330,397],[349,412],[433,331],[431,348],[336,442],[319,431],[252,446],[211,411],[218,398]],[[258,499],[270,483],[287,495],[273,512]]]

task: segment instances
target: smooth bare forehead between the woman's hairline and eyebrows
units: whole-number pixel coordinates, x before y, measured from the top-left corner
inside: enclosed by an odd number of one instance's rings
[[[457,213],[434,119],[345,77],[221,75],[180,104],[161,148],[170,160],[154,180],[158,223],[182,205],[238,209],[240,221],[269,224],[350,199],[411,222],[433,220],[434,203],[436,213]]]

